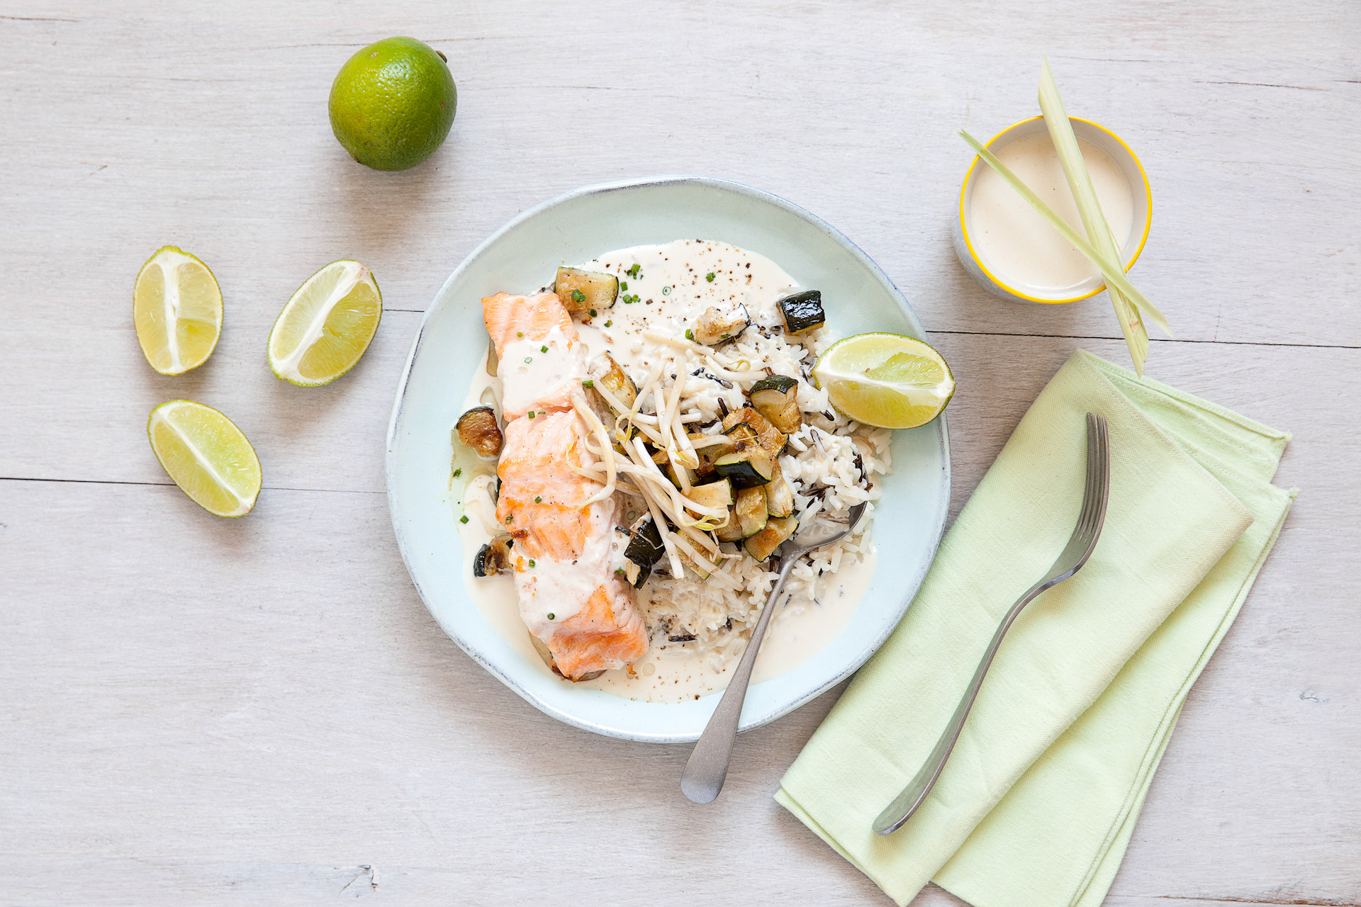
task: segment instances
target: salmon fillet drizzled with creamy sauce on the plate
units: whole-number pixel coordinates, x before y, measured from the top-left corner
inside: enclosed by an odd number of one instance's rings
[[[563,677],[623,668],[648,651],[648,631],[615,571],[627,541],[615,529],[619,495],[584,504],[603,485],[576,472],[599,468],[587,449],[591,431],[572,408],[585,347],[551,292],[498,292],[482,309],[499,358],[506,428],[497,519],[514,538],[520,617]]]

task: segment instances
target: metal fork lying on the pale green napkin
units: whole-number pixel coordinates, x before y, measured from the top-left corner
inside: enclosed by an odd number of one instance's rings
[[[1053,562],[1053,566],[1049,567],[1049,572],[1044,575],[1044,579],[1030,586],[1030,590],[1021,596],[1017,604],[1011,605],[1007,616],[1002,619],[1002,626],[992,635],[992,642],[988,643],[983,662],[973,672],[973,680],[969,681],[968,689],[964,691],[964,699],[960,700],[960,706],[954,710],[954,715],[940,734],[940,740],[936,741],[935,749],[931,751],[925,764],[921,766],[908,786],[902,789],[902,793],[874,820],[872,827],[875,834],[891,835],[925,801],[927,794],[931,793],[931,787],[935,786],[936,778],[940,776],[946,760],[950,757],[950,751],[954,749],[955,741],[960,740],[960,732],[969,717],[969,710],[973,708],[973,700],[979,696],[983,677],[988,673],[992,658],[998,654],[1002,638],[1011,628],[1011,624],[1015,623],[1022,608],[1034,601],[1041,592],[1059,585],[1082,570],[1082,564],[1087,563],[1087,558],[1092,556],[1092,549],[1097,547],[1097,538],[1101,536],[1101,524],[1105,522],[1106,499],[1109,495],[1111,442],[1106,435],[1105,417],[1089,412],[1087,481],[1082,492],[1082,514],[1078,517],[1078,525],[1074,526],[1068,544],[1063,548],[1059,559]]]

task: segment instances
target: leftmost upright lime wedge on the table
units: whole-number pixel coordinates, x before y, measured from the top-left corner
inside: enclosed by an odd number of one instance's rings
[[[151,367],[180,375],[201,366],[222,335],[218,279],[188,252],[162,246],[132,288],[132,322]]]

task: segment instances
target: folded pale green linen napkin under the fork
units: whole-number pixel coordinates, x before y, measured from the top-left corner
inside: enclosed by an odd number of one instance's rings
[[[1022,612],[931,795],[875,835],[1002,615],[1067,541],[1089,411],[1109,423],[1112,477],[1092,560]],[[932,877],[976,907],[1100,903],[1185,694],[1293,500],[1270,484],[1288,439],[1077,351],[776,800],[900,904]]]

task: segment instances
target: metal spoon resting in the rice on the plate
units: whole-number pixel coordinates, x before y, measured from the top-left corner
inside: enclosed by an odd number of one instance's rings
[[[732,672],[728,688],[723,691],[723,700],[713,710],[708,726],[700,734],[700,742],[694,745],[694,752],[690,753],[690,761],[685,764],[685,774],[680,775],[680,790],[694,802],[712,802],[719,795],[719,791],[723,790],[723,782],[728,776],[728,761],[732,759],[732,744],[738,737],[738,719],[742,717],[742,702],[747,698],[747,685],[751,683],[751,669],[757,664],[757,653],[761,651],[765,628],[770,623],[770,615],[774,613],[776,601],[784,592],[784,581],[789,578],[789,571],[793,570],[793,566],[799,563],[803,555],[841,541],[851,534],[855,525],[860,522],[863,513],[864,504],[859,503],[851,509],[847,522],[815,519],[811,526],[800,529],[793,538],[789,538],[777,549],[776,553],[780,555],[780,578],[776,579],[774,589],[770,590],[770,597],[766,598],[765,608],[761,609],[761,617],[751,631],[747,649],[742,653],[742,661],[738,662],[736,669]]]

